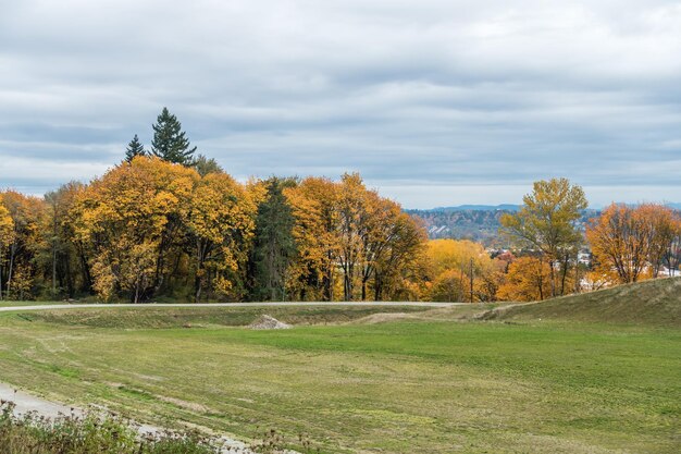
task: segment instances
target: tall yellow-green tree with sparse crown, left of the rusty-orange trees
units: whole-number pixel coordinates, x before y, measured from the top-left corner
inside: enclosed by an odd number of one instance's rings
[[[552,179],[534,183],[532,194],[523,197],[517,213],[505,213],[503,232],[542,254],[549,266],[550,295],[564,295],[570,260],[577,254],[582,233],[577,221],[589,206],[580,186],[567,179]],[[556,266],[560,269],[560,283],[556,284]]]

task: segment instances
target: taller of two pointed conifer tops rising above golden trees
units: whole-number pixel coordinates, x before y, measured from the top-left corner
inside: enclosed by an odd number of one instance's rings
[[[163,108],[153,127],[151,154],[164,161],[189,167],[194,163],[196,147],[189,148],[189,139],[182,131],[177,118]]]

